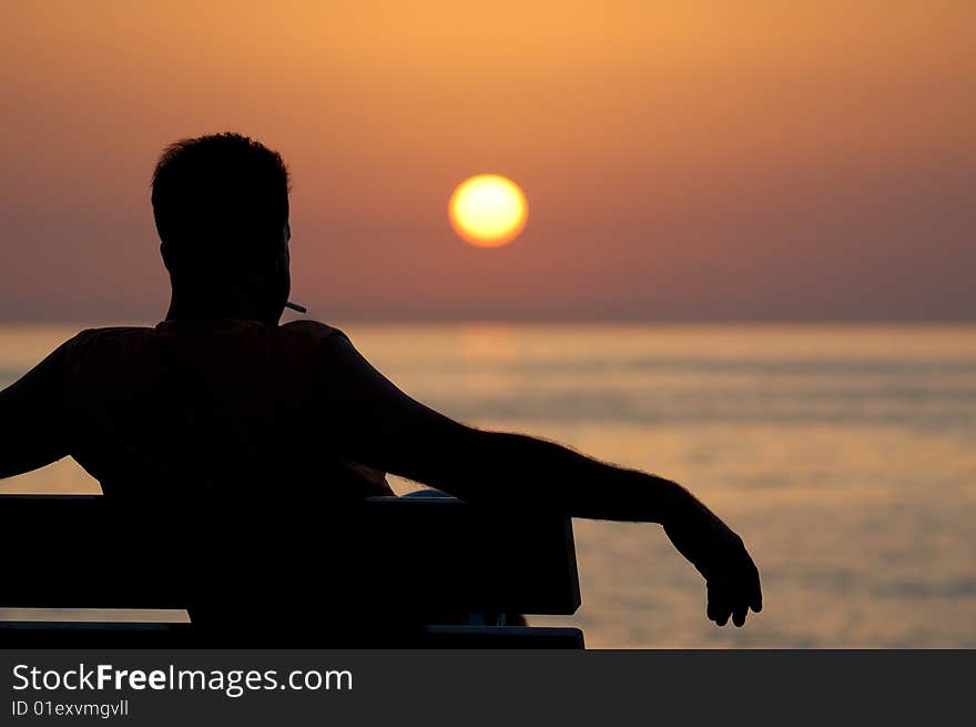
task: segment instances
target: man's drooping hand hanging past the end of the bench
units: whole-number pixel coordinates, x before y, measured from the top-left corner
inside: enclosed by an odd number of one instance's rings
[[[664,523],[671,543],[698,568],[708,585],[708,616],[719,626],[742,626],[752,608],[762,610],[759,569],[742,538],[691,495]]]

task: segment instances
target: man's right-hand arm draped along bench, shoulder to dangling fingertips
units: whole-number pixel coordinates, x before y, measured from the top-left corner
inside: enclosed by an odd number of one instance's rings
[[[709,618],[742,625],[762,608],[759,572],[741,538],[680,485],[520,434],[451,421],[399,391],[344,336],[321,351],[318,392],[338,456],[471,502],[552,514],[660,523],[705,577]],[[504,485],[504,486],[502,486]]]

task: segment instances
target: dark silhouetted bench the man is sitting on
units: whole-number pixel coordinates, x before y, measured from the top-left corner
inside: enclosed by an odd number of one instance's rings
[[[577,610],[571,522],[454,498],[201,508],[0,495],[0,607],[179,608],[191,618],[7,620],[0,648],[583,645],[576,628],[497,618]]]

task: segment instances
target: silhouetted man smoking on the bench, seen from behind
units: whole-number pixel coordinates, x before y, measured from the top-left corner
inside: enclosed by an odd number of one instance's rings
[[[465,426],[414,401],[342,332],[278,325],[288,172],[223,133],[165,150],[152,181],[172,300],[155,327],[82,331],[0,392],[0,477],[73,456],[106,497],[393,494],[383,473],[462,499],[660,523],[704,576],[708,617],[762,608],[741,538],[680,485],[550,442]],[[501,483],[505,486],[500,486]]]

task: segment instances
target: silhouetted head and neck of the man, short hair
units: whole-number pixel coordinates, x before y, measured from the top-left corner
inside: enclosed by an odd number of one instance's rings
[[[277,321],[291,286],[277,152],[230,132],[177,141],[156,164],[152,204],[181,315]]]

